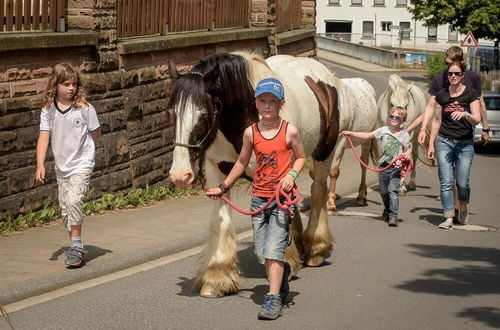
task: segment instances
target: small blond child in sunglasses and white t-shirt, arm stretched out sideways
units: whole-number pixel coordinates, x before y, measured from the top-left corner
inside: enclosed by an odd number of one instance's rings
[[[411,159],[411,140],[407,131],[401,129],[401,125],[406,121],[407,112],[402,107],[392,107],[389,110],[387,126],[377,128],[373,132],[351,132],[343,131],[340,135],[353,136],[360,139],[374,139],[380,141],[381,154],[380,168],[388,166],[399,155],[405,155],[406,159]],[[388,222],[390,227],[398,226],[399,211],[399,185],[401,183],[401,169],[394,164],[387,170],[380,172],[379,189],[380,197],[384,203],[384,213],[382,217]]]

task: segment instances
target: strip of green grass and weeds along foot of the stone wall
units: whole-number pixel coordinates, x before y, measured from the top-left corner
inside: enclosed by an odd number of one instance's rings
[[[94,189],[90,188],[87,192],[87,201],[83,204],[85,215],[95,213],[104,213],[106,210],[118,210],[123,208],[134,208],[138,206],[150,205],[154,202],[168,198],[183,198],[187,196],[198,195],[196,189],[177,189],[174,187],[145,187],[134,188],[125,194],[104,193],[96,200],[88,200],[93,194]],[[21,231],[31,227],[38,227],[55,221],[60,216],[59,208],[53,205],[46,205],[43,209],[33,212],[28,211],[14,217],[7,214],[5,219],[0,220],[0,235]]]

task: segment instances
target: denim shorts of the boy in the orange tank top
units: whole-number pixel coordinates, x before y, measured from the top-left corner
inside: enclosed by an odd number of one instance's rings
[[[252,195],[250,210],[260,209],[268,200],[267,197]],[[288,243],[288,220],[288,211],[278,207],[276,201],[271,202],[264,212],[252,216],[254,252],[259,263],[263,264],[266,259],[284,261]]]

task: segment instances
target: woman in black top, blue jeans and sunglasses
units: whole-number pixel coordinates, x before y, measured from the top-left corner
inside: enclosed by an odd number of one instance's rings
[[[453,184],[458,188],[459,214],[461,224],[469,221],[467,203],[470,197],[469,176],[474,158],[474,125],[481,120],[479,95],[463,84],[465,66],[461,62],[448,65],[450,87],[436,94],[435,115],[432,122],[428,156],[437,156],[441,204],[446,220],[439,228],[452,229],[455,215]],[[435,142],[435,146],[434,146]]]

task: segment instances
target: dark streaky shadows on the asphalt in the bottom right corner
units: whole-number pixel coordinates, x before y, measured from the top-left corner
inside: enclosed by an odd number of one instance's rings
[[[500,250],[495,248],[410,244],[414,254],[432,259],[451,259],[472,262],[461,267],[430,269],[423,278],[407,281],[396,288],[411,292],[424,292],[443,296],[468,297],[473,295],[500,294]],[[485,265],[478,265],[479,262]],[[457,314],[500,326],[500,310],[496,307],[467,308]]]

